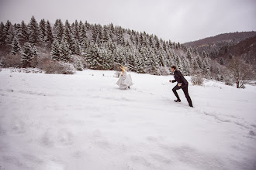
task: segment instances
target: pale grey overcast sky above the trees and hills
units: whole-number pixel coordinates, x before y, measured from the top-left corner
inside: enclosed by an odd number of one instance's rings
[[[255,0],[0,0],[0,21],[99,23],[189,42],[226,32],[255,31]]]

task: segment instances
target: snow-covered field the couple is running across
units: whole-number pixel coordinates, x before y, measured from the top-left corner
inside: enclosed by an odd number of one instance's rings
[[[0,72],[0,169],[256,169],[256,87],[114,71]],[[187,77],[189,80],[189,77]]]

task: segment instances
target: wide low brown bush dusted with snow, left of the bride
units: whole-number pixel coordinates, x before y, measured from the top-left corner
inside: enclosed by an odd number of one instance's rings
[[[55,73],[55,74],[74,74],[75,69],[71,63],[64,63],[58,61],[50,61],[48,64],[43,66],[45,73]]]

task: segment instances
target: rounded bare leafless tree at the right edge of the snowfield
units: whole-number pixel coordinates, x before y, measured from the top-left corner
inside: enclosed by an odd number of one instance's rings
[[[237,88],[244,87],[247,80],[251,80],[254,75],[252,66],[245,62],[245,59],[234,56],[229,63],[230,78],[237,84]]]

